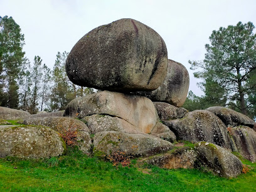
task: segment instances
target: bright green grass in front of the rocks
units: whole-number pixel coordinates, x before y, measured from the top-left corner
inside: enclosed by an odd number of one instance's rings
[[[247,174],[226,179],[196,169],[137,168],[136,160],[116,168],[68,147],[65,156],[50,159],[0,159],[0,191],[255,191],[256,164],[245,163]]]

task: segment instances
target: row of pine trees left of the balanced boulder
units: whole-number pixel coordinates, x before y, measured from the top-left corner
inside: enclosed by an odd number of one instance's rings
[[[67,77],[68,53],[58,52],[53,70],[40,56],[33,63],[24,56],[24,35],[12,17],[0,17],[0,105],[38,111],[63,110],[75,97],[88,95],[92,88],[79,87]]]

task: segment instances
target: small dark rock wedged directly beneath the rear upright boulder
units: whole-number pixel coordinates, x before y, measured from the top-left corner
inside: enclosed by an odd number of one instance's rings
[[[157,114],[161,120],[172,120],[183,118],[188,110],[183,107],[175,107],[164,102],[153,102],[156,107]]]

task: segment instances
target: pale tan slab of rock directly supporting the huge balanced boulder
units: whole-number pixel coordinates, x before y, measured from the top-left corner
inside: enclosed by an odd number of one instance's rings
[[[82,119],[93,114],[119,117],[145,133],[150,133],[158,122],[156,108],[151,100],[138,95],[109,91],[72,100],[67,105],[64,115]]]

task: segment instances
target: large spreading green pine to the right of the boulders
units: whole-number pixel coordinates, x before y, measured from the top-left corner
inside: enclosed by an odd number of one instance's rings
[[[206,44],[205,60],[189,61],[197,78],[210,79],[226,95],[227,105],[248,114],[252,105],[249,96],[255,93],[256,81],[251,81],[256,69],[256,35],[251,22],[213,31]],[[211,90],[211,93],[218,90]],[[216,95],[218,97],[218,95]],[[256,116],[256,114],[254,114]]]

